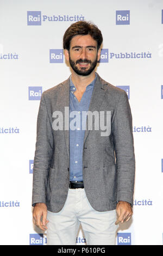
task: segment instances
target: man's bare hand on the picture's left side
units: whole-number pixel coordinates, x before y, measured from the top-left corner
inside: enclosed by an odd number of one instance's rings
[[[47,206],[44,203],[37,203],[33,209],[33,222],[41,230],[47,230]]]

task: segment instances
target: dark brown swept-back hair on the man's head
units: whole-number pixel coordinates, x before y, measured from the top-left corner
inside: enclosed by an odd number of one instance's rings
[[[70,50],[70,42],[75,35],[91,35],[97,41],[97,50],[103,42],[102,33],[96,25],[87,21],[78,21],[67,28],[63,38],[64,49]]]

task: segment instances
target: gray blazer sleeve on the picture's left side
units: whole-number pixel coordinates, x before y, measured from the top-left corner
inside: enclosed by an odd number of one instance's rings
[[[49,167],[53,154],[53,132],[48,115],[45,94],[41,96],[37,115],[37,136],[33,166],[32,205],[46,203],[46,187]]]

